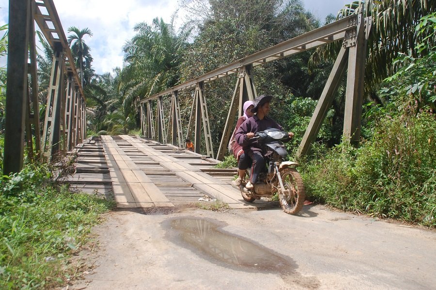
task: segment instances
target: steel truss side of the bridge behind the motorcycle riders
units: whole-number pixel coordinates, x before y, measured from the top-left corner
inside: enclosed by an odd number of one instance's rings
[[[176,85],[161,93],[146,97],[141,100],[141,123],[143,134],[159,142],[166,143],[169,140],[164,137],[164,109],[162,108],[162,97],[172,96],[171,105],[171,143],[182,146],[183,132],[179,125],[180,113],[178,113],[177,94],[182,90],[195,87],[195,94],[192,102],[191,116],[187,129],[187,136],[190,136],[192,128],[195,126],[195,152],[200,153],[201,145],[201,122],[203,127],[203,140],[205,140],[207,155],[214,157],[212,141],[210,139],[209,118],[207,113],[206,98],[204,97],[203,85],[205,82],[214,81],[218,78],[226,77],[233,73],[238,73],[238,81],[234,89],[234,94],[227,115],[226,124],[221,135],[221,142],[217,152],[217,159],[222,160],[227,144],[232,134],[234,120],[242,113],[242,104],[246,100],[253,100],[257,97],[256,88],[252,78],[253,70],[256,66],[266,64],[308,49],[316,48],[327,43],[342,40],[342,48],[338,54],[336,62],[327,80],[325,88],[318,101],[317,107],[311,117],[310,124],[305,132],[303,140],[299,146],[297,156],[306,154],[311,143],[316,138],[321,124],[326,117],[328,108],[331,106],[333,94],[337,90],[338,84],[343,77],[347,67],[347,89],[345,96],[345,120],[343,134],[349,138],[350,142],[357,143],[360,138],[360,122],[363,95],[363,78],[366,59],[366,42],[371,29],[371,18],[363,18],[361,15],[352,15],[326,26],[304,33],[295,38],[277,44],[273,47],[266,48],[257,53],[251,54],[243,59],[231,64],[224,65],[210,71],[202,76]],[[154,114],[152,111],[153,101],[158,100],[158,115],[156,117],[157,126],[154,127]],[[156,130],[156,131],[155,131]],[[175,142],[174,136],[177,131],[178,142]]]

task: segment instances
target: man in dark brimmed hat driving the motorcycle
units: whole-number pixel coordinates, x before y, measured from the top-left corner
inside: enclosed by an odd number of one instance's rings
[[[266,152],[262,152],[262,147],[258,143],[257,139],[252,138],[254,137],[255,133],[264,131],[268,128],[283,130],[276,121],[268,117],[268,113],[271,109],[271,99],[272,96],[266,95],[257,97],[254,100],[254,108],[251,109],[251,112],[256,114],[242,123],[235,133],[236,142],[242,146],[244,153],[253,161],[250,181],[245,186],[248,190],[252,190],[254,188],[254,184],[257,182],[259,174],[265,168],[264,154]],[[288,136],[289,138],[292,138],[294,137],[294,133],[288,132]],[[247,162],[249,162],[249,160]],[[239,164],[239,166],[239,169],[247,169],[249,165]]]

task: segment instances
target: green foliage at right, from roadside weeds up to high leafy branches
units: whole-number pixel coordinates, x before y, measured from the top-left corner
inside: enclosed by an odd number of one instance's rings
[[[434,37],[435,26],[435,13],[424,16],[417,34]],[[334,207],[436,227],[435,47],[420,43],[394,63],[378,92],[387,105],[373,108],[365,128],[371,137],[323,152],[303,177],[313,198]]]

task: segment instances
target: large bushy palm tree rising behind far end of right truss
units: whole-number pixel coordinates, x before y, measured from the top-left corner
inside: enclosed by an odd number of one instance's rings
[[[124,46],[125,67],[120,74],[119,91],[124,95],[123,106],[129,112],[140,97],[148,97],[179,81],[178,65],[187,46],[189,29],[178,34],[173,20],[165,23],[155,18],[151,25],[139,23],[137,34]]]

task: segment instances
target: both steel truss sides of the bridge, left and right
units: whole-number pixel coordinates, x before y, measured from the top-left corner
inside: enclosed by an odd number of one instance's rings
[[[35,23],[54,51],[42,129],[38,118]],[[311,117],[297,156],[306,154],[310,149],[345,71],[347,85],[343,134],[351,143],[357,144],[360,138],[366,43],[371,24],[369,17],[348,16],[219,67],[154,96],[145,97],[140,101],[142,134],[159,143],[178,147],[184,147],[184,136],[194,135],[196,153],[206,152],[210,158],[222,160],[235,118],[242,114],[243,102],[257,97],[253,80],[256,66],[328,43],[342,41],[341,50]],[[204,84],[234,73],[237,74],[238,80],[234,87],[218,151],[214,151],[217,148],[214,149],[212,144],[207,92],[204,90]],[[195,89],[195,92],[185,135],[180,117],[178,93],[188,89]],[[171,98],[169,108],[164,107],[164,97]],[[25,147],[23,140],[31,160],[40,160],[44,157],[54,160],[82,143],[86,137],[85,112],[86,103],[80,77],[53,0],[10,0],[3,174],[21,170]],[[202,141],[205,148],[202,148]],[[33,156],[33,148],[36,152],[35,156]]]

